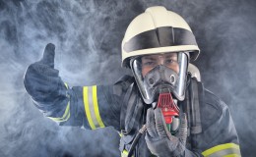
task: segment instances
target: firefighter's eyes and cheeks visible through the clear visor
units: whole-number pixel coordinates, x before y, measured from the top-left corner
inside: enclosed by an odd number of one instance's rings
[[[164,53],[158,55],[147,55],[142,57],[142,75],[143,78],[155,67],[164,65],[167,68],[173,70],[177,74],[179,73],[177,53]]]

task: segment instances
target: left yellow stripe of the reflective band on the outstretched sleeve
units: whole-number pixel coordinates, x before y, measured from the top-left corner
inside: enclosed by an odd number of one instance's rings
[[[87,120],[89,122],[89,125],[92,130],[96,129],[95,124],[93,123],[90,108],[89,108],[89,99],[88,99],[88,86],[83,87],[83,99],[84,99],[84,105],[85,105],[85,111],[86,111],[86,116]]]

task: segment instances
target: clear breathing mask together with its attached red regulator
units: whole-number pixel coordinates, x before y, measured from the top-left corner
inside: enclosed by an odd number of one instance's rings
[[[162,109],[165,123],[172,132],[179,126],[177,101],[185,97],[188,55],[186,52],[169,52],[130,60],[144,102]]]

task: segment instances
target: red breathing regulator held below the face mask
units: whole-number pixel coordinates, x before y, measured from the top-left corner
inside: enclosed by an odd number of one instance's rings
[[[176,104],[170,92],[163,92],[160,93],[158,104],[153,106],[161,109],[166,127],[171,133],[175,133],[179,127],[179,108]]]

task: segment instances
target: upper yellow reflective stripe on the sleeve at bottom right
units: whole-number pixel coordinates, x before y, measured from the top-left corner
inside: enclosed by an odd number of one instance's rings
[[[225,144],[221,144],[221,145],[217,145],[215,147],[212,147],[206,151],[204,151],[202,154],[204,156],[210,156],[214,153],[218,153],[220,151],[223,151],[223,150],[234,150],[234,152],[240,152],[240,148],[239,148],[239,145],[237,144],[234,144],[234,143],[225,143]],[[236,153],[237,154],[237,153]],[[226,155],[230,155],[230,154],[226,154]],[[237,154],[240,156],[240,154]]]

